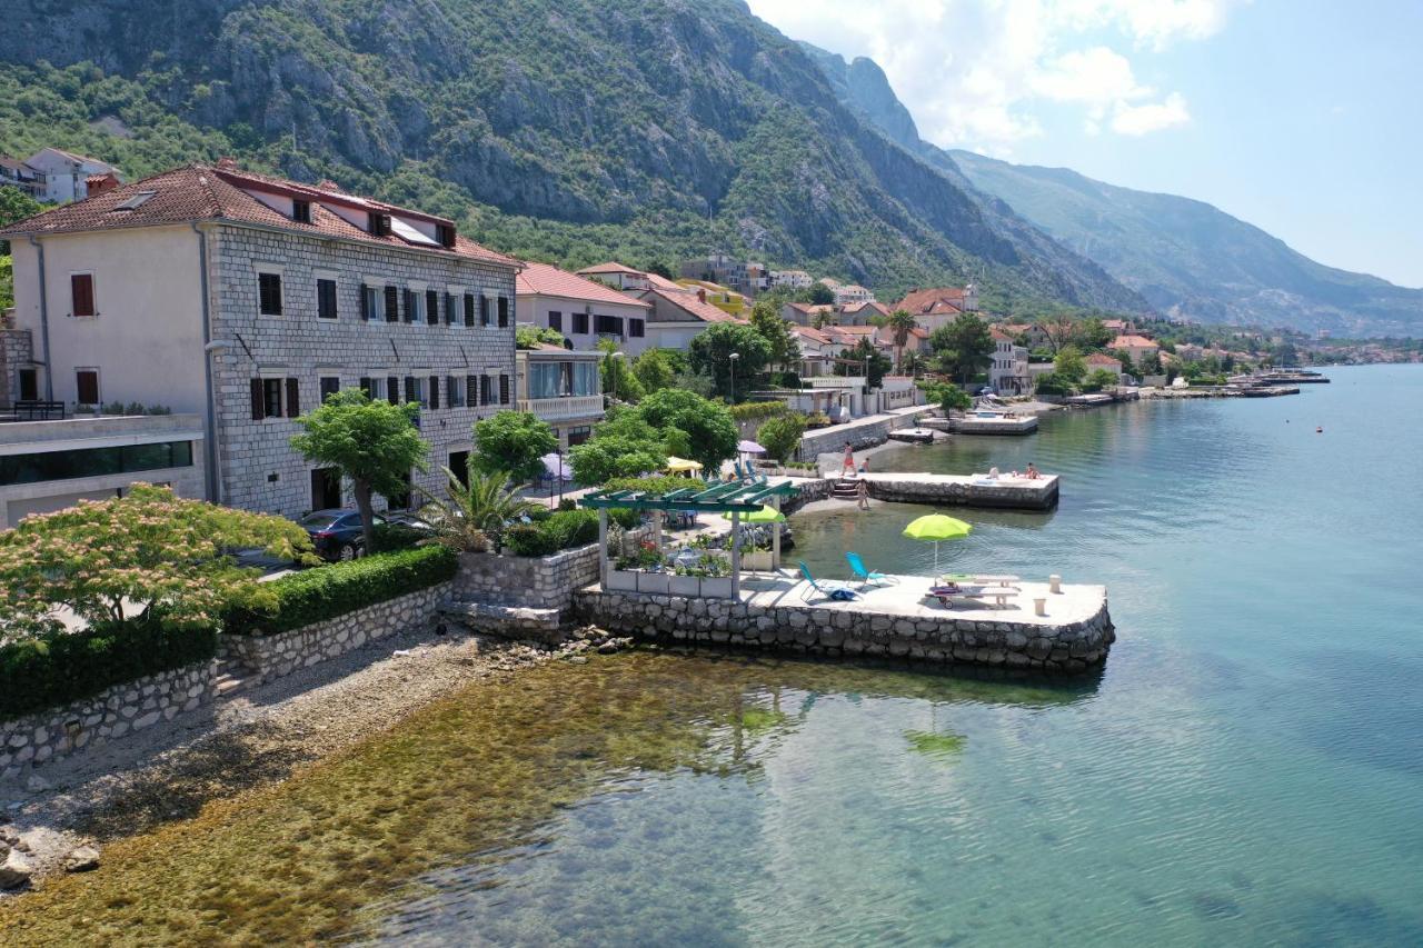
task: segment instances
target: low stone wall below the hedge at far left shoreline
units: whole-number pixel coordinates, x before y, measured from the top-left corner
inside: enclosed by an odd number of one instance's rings
[[[212,662],[185,665],[114,685],[64,707],[0,722],[0,780],[211,703],[212,673]]]

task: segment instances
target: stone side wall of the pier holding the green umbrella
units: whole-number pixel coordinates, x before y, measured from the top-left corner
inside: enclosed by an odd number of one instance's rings
[[[636,595],[581,589],[579,619],[599,628],[666,643],[726,645],[804,655],[858,655],[973,663],[1046,672],[1083,672],[1116,641],[1106,601],[1090,619],[1032,625],[992,619],[909,616],[763,606],[730,599]]]

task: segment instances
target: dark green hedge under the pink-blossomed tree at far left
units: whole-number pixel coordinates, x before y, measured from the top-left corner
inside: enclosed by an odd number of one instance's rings
[[[112,685],[211,659],[215,628],[114,622],[0,648],[0,719],[90,697]]]

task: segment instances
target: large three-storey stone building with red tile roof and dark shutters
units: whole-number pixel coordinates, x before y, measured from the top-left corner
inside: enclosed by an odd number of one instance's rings
[[[296,417],[342,389],[418,403],[433,465],[455,470],[474,421],[514,407],[521,265],[443,218],[223,161],[121,185],[0,236],[31,352],[13,384],[67,413],[139,403],[196,416],[201,437],[186,440],[212,501],[287,517],[350,502],[333,471],[289,443]],[[144,438],[171,421],[127,424],[125,437]],[[0,446],[16,443],[9,428]],[[73,440],[43,430],[54,436],[26,451]],[[438,468],[413,484],[438,491]]]

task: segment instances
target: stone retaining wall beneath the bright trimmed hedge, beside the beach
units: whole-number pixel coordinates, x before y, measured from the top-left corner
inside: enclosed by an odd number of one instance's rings
[[[219,653],[243,665],[255,679],[270,682],[428,622],[450,598],[450,585],[441,582],[277,635],[222,635]]]

